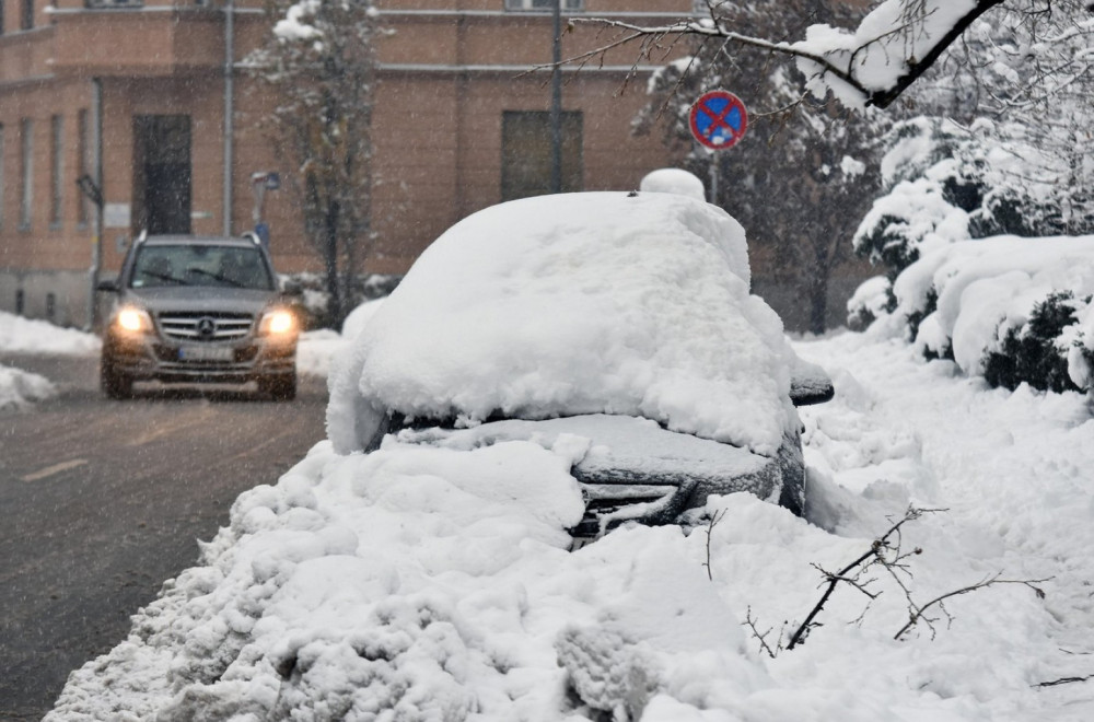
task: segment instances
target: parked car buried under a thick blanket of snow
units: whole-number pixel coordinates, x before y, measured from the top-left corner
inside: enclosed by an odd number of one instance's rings
[[[792,384],[792,377],[799,383]],[[695,198],[584,193],[502,203],[421,255],[329,379],[336,451],[577,444],[575,536],[688,523],[749,491],[800,514],[792,386],[825,400],[749,293],[741,225]]]

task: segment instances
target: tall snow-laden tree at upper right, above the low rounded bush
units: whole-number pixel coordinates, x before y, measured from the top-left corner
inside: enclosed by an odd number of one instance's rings
[[[885,195],[856,234],[891,278],[924,244],[1094,233],[1094,14],[1074,2],[978,20],[885,139]]]

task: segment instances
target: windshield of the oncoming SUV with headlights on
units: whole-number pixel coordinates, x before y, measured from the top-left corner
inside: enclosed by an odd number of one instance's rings
[[[150,245],[140,248],[129,286],[212,286],[270,291],[274,281],[257,248],[217,245]]]

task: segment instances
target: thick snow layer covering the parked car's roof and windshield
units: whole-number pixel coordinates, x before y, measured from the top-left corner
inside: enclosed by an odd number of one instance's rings
[[[782,324],[741,225],[673,194],[496,206],[445,232],[337,360],[327,432],[387,409],[467,421],[619,414],[773,455],[795,422]]]

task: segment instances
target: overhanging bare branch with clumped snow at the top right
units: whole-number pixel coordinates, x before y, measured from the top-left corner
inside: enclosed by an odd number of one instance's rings
[[[640,44],[648,58],[670,38],[715,39],[782,54],[796,59],[807,89],[824,97],[831,91],[845,105],[887,107],[939,59],[965,30],[1003,0],[885,0],[852,32],[826,24],[811,25],[804,40],[775,42],[737,33],[708,2],[701,18],[659,26],[607,19],[572,19],[619,31],[609,43],[562,61],[583,66],[603,59],[622,45]],[[550,66],[544,66],[550,67]]]

